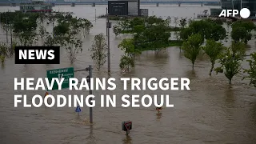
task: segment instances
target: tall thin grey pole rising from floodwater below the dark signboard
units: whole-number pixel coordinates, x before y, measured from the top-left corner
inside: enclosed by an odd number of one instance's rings
[[[107,36],[107,68],[110,74],[110,28],[111,22],[109,18],[108,9],[106,8],[106,36]]]

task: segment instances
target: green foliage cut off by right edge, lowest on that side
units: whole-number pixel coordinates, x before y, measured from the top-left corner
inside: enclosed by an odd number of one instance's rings
[[[244,72],[249,74],[249,76],[245,78],[250,78],[250,85],[254,85],[256,87],[256,53],[250,54],[251,59],[247,60],[250,65],[250,69],[245,69]]]

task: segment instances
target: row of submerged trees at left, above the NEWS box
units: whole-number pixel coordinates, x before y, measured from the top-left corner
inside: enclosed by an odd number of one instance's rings
[[[82,51],[82,34],[85,37],[93,27],[87,19],[61,13],[6,12],[0,14],[0,23],[6,31],[6,42],[0,46],[2,63],[6,57],[14,54],[15,46],[34,45],[62,46],[73,63],[76,55]],[[52,30],[46,30],[46,26],[51,24]]]

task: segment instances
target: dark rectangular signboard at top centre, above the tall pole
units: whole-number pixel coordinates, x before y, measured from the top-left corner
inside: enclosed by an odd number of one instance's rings
[[[128,15],[128,1],[108,1],[110,15]]]

